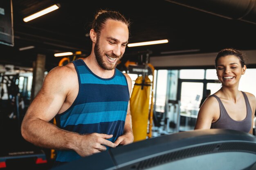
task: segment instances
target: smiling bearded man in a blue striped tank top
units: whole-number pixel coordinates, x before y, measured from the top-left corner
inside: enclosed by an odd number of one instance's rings
[[[90,30],[92,52],[52,69],[22,121],[29,142],[57,150],[55,165],[133,142],[131,79],[115,67],[124,54],[129,22],[101,10]],[[56,118],[58,127],[49,123]]]

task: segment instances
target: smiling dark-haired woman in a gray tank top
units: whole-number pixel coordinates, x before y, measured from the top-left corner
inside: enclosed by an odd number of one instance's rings
[[[204,101],[195,129],[233,129],[252,134],[256,99],[253,94],[238,90],[246,70],[242,52],[233,48],[221,50],[215,67],[222,87]]]

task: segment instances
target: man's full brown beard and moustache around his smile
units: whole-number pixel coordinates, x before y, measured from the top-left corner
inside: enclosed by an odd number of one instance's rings
[[[99,47],[99,41],[96,41],[96,43],[95,43],[94,54],[95,54],[95,57],[96,57],[96,60],[99,64],[99,66],[101,68],[103,68],[104,70],[113,70],[113,69],[115,69],[117,67],[118,61],[123,57],[122,55],[116,56],[115,54],[111,53],[111,54],[108,55],[109,57],[119,58],[119,59],[117,59],[115,65],[107,65],[103,60],[103,57],[104,57],[103,55],[104,54],[101,53],[101,50],[100,50],[100,47]]]

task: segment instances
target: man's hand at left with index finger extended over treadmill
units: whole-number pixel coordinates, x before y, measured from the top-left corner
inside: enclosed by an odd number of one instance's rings
[[[78,153],[81,157],[89,156],[94,153],[99,153],[107,150],[106,146],[111,148],[115,148],[116,144],[106,140],[113,137],[113,135],[100,134],[100,133],[91,133],[81,136],[81,142],[78,144],[76,149],[76,153]],[[105,146],[103,146],[105,145]]]

